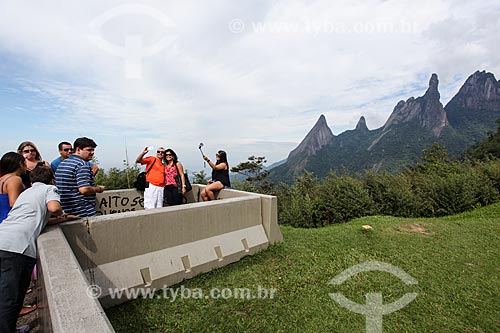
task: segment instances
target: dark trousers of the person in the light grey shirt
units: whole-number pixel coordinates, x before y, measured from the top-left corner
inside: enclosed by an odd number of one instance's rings
[[[0,332],[14,332],[36,259],[0,250]]]

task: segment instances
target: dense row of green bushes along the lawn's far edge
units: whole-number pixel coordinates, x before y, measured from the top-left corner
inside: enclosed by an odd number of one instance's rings
[[[309,228],[371,214],[444,216],[499,200],[500,160],[451,161],[440,147],[431,148],[415,168],[397,175],[330,172],[319,184],[306,172],[278,191],[279,222]]]

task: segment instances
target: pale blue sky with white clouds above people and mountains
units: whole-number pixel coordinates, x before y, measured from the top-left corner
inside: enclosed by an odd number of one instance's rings
[[[92,138],[101,168],[172,148],[285,159],[321,114],[384,125],[432,73],[445,105],[500,76],[500,2],[0,0],[0,153]],[[208,166],[204,169],[209,171]]]

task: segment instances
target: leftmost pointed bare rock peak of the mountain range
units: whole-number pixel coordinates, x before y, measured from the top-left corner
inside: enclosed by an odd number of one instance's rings
[[[304,159],[308,156],[314,155],[318,150],[331,142],[334,135],[326,123],[326,118],[321,115],[314,125],[314,127],[307,133],[302,142],[290,152],[288,160],[300,156]]]

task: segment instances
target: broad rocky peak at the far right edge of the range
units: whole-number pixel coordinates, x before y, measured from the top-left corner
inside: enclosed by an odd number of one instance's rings
[[[446,105],[449,108],[500,111],[500,81],[492,73],[476,71]]]

